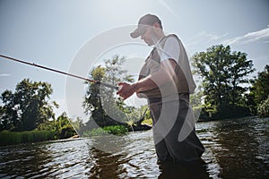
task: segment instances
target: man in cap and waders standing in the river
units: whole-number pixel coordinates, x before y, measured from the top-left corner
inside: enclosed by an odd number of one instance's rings
[[[189,105],[195,82],[185,48],[176,35],[165,36],[161,20],[152,14],[144,15],[130,35],[141,37],[154,48],[138,81],[119,82],[117,94],[126,99],[135,92],[138,97],[148,99],[159,163],[199,160],[204,146],[195,134],[194,115]]]

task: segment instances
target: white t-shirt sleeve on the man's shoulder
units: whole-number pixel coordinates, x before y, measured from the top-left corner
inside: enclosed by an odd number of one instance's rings
[[[175,37],[169,37],[165,41],[164,47],[161,50],[161,62],[163,60],[174,59],[178,62],[178,56],[180,53],[178,39]]]

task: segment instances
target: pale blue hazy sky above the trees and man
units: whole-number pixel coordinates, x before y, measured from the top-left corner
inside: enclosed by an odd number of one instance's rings
[[[269,64],[268,0],[0,0],[0,54],[83,77],[104,59],[124,55],[135,74],[151,47],[129,32],[146,13],[178,35],[189,57],[223,44],[247,53],[252,76]],[[56,115],[82,115],[83,81],[0,58],[0,93],[26,78],[52,85]]]

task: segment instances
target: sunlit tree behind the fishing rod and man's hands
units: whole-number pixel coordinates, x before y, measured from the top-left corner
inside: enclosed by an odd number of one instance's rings
[[[117,85],[118,81],[133,81],[132,76],[122,69],[125,57],[115,55],[105,61],[105,66],[97,66],[92,69],[90,78],[94,81],[102,81]],[[116,91],[103,87],[97,83],[87,83],[88,88],[82,107],[86,114],[100,127],[126,123],[125,110],[128,110],[121,98],[116,96]],[[117,116],[117,121],[111,116]],[[90,120],[91,121],[91,120]]]

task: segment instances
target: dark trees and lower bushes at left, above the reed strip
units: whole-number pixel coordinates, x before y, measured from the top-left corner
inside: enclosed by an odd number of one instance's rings
[[[56,117],[53,111],[56,101],[49,102],[53,90],[51,84],[24,79],[15,91],[4,90],[0,106],[0,132],[50,131],[52,139],[74,136],[75,132],[65,113]]]

